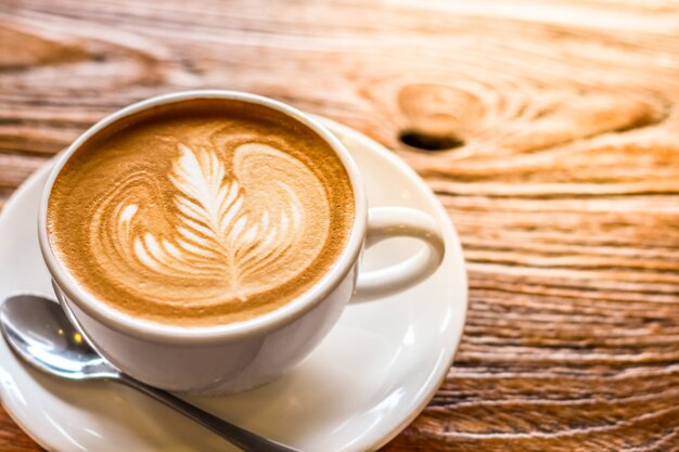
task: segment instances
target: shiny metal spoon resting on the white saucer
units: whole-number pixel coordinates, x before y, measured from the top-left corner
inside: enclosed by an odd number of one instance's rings
[[[151,396],[245,452],[300,452],[244,430],[115,369],[82,339],[62,308],[48,298],[17,295],[0,307],[0,330],[10,347],[39,370],[69,379],[111,379]]]

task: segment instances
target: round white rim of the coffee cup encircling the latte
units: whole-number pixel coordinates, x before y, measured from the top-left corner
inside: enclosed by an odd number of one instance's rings
[[[238,100],[252,104],[264,105],[266,107],[282,112],[292,117],[306,127],[318,133],[342,160],[347,171],[351,188],[354,190],[355,219],[349,234],[349,240],[345,249],[335,261],[334,266],[322,276],[322,279],[311,288],[293,298],[282,307],[267,312],[262,315],[255,317],[245,321],[208,326],[179,326],[164,324],[144,319],[138,319],[130,314],[116,310],[104,301],[97,299],[93,295],[86,292],[73,277],[68,271],[62,266],[56,258],[47,233],[47,208],[48,201],[52,191],[52,185],[64,164],[80,147],[80,145],[90,137],[98,133],[108,125],[136,114],[138,112],[175,102],[188,101],[193,99],[223,99]],[[40,198],[40,210],[38,215],[38,238],[40,242],[40,250],[44,262],[51,273],[52,279],[66,297],[71,299],[78,308],[99,322],[113,327],[119,332],[131,334],[138,337],[146,337],[164,341],[181,341],[181,343],[202,343],[214,339],[229,339],[247,336],[254,332],[266,332],[291,323],[295,319],[300,318],[306,312],[318,306],[323,299],[330,295],[332,290],[346,277],[359,257],[361,246],[366,235],[368,202],[364,188],[361,181],[358,167],[349,152],[344,147],[340,140],[333,135],[318,120],[309,117],[299,109],[286,105],[282,102],[241,91],[228,90],[193,90],[181,91],[168,94],[161,94],[150,98],[134,104],[128,105],[117,112],[99,120],[88,130],[86,130],[77,140],[75,140],[66,151],[57,155],[56,163],[52,168],[47,180]]]

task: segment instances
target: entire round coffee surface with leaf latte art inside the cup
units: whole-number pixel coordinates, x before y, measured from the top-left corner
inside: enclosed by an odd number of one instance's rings
[[[132,317],[217,325],[308,290],[343,253],[354,193],[316,132],[266,107],[185,101],[102,130],[48,204],[57,259]]]

